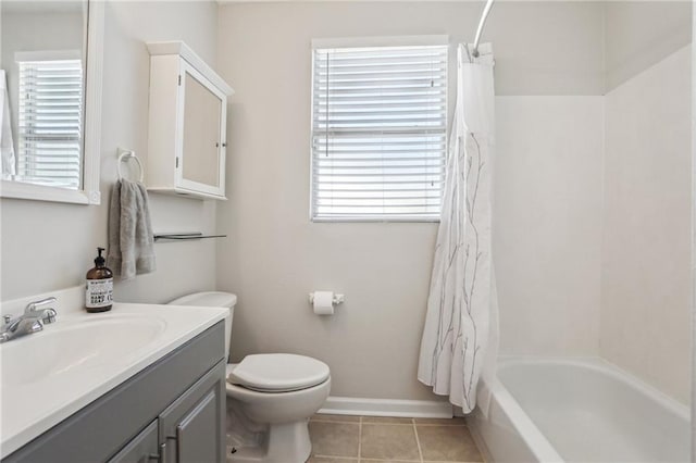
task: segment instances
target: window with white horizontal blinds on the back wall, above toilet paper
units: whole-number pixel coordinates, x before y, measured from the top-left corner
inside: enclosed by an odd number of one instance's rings
[[[312,218],[439,218],[447,46],[314,49]]]

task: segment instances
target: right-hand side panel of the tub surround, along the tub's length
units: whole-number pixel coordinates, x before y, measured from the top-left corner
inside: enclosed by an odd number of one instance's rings
[[[600,352],[688,402],[691,47],[606,97]]]

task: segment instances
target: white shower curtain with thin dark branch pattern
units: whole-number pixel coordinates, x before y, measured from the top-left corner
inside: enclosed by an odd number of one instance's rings
[[[478,379],[495,375],[497,298],[490,255],[493,51],[457,50],[457,104],[418,378],[464,413]],[[490,384],[490,383],[488,383]],[[488,397],[480,395],[486,411]]]

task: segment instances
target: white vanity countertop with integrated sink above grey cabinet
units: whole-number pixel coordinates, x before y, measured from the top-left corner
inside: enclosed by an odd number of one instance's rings
[[[42,331],[1,343],[0,458],[223,321],[227,313],[217,308],[133,303],[114,303],[111,311],[99,314],[59,310],[58,321]],[[79,336],[90,331],[86,342],[96,349],[86,354]],[[137,340],[129,339],[129,334]],[[23,365],[37,372],[46,365],[51,373],[35,378],[25,374]],[[16,368],[22,375],[11,374]]]

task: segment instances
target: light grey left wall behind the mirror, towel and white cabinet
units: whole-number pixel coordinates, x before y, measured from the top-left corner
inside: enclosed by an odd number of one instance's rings
[[[185,40],[209,63],[216,55],[215,2],[108,2],[99,207],[1,199],[0,299],[83,281],[97,246],[107,245],[107,211],[116,179],[116,148],[147,159],[149,55],[146,40]],[[215,203],[150,196],[156,232],[215,232]],[[165,302],[214,287],[212,240],[158,243],[158,271],[117,284],[119,301]],[[191,271],[195,270],[195,271]]]

